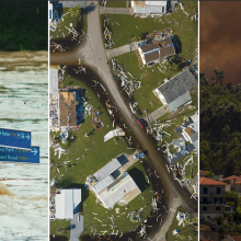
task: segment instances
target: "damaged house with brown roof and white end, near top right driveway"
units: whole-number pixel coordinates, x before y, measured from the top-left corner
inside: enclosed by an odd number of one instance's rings
[[[175,47],[171,37],[150,44],[142,42],[139,44],[138,50],[144,65],[156,64],[160,59],[175,55]]]

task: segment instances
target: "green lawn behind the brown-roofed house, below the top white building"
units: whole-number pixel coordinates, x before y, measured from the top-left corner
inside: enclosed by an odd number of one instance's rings
[[[184,8],[186,7],[185,11],[188,13],[194,12],[193,9],[197,10],[197,1],[184,2]],[[196,55],[198,24],[197,22],[191,21],[191,15],[186,16],[180,8],[170,15],[164,15],[160,19],[139,19],[133,15],[123,14],[107,14],[107,16],[110,18],[110,28],[115,43],[113,48],[130,44],[133,37],[138,38],[147,33],[171,27],[173,31],[172,33],[179,36],[182,44],[180,57],[183,57],[183,59],[194,59]],[[102,14],[100,18],[103,28],[105,14]],[[116,22],[119,25],[116,24]]]

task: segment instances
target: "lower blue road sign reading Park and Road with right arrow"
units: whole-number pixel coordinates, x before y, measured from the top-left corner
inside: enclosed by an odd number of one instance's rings
[[[32,147],[31,150],[0,147],[0,161],[39,163],[39,147]]]

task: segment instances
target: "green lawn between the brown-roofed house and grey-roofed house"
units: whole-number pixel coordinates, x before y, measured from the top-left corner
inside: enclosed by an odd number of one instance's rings
[[[138,102],[139,113],[137,116],[142,116],[142,111],[148,110],[148,113],[156,111],[162,106],[161,101],[153,94],[153,90],[164,83],[165,78],[171,78],[177,72],[170,74],[163,74],[159,71],[159,65],[154,65],[151,68],[140,69],[137,55],[135,53],[127,53],[120,56],[115,57],[119,65],[124,64],[124,71],[131,73],[131,76],[141,81],[141,87],[138,90],[134,91],[133,97]],[[112,62],[110,60],[112,68]],[[127,73],[128,76],[128,73]],[[128,76],[129,77],[129,76]],[[117,78],[117,77],[116,77]],[[130,77],[128,78],[130,80]],[[118,81],[120,85],[120,81]]]

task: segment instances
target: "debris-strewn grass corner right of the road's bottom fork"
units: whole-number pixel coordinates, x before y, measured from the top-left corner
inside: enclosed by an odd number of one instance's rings
[[[192,225],[185,225],[185,227],[177,226],[179,221],[176,220],[176,215],[180,210],[186,213],[186,210],[183,207],[177,208],[177,210],[175,213],[175,216],[174,216],[174,220],[173,220],[173,222],[172,222],[172,225],[169,229],[169,232],[168,232],[168,241],[190,240],[188,236],[192,238],[192,241],[197,241],[198,240],[198,234],[197,234],[197,232],[195,231],[195,228]],[[180,237],[172,234],[172,231],[174,229],[179,229]]]

